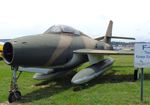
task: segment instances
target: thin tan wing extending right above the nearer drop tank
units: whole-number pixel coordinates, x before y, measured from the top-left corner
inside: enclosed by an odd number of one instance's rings
[[[81,54],[100,54],[100,55],[134,55],[133,51],[130,50],[98,50],[98,49],[79,49],[75,50],[74,53]]]

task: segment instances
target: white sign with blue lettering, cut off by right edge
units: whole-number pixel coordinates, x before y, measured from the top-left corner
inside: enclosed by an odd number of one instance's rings
[[[134,67],[150,68],[150,43],[135,43]]]

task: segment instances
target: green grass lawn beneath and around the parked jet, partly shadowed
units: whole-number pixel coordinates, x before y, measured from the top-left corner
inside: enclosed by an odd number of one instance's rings
[[[72,75],[53,81],[37,81],[32,73],[23,73],[18,80],[21,105],[150,105],[150,69],[145,69],[144,102],[140,101],[140,81],[133,81],[133,56],[112,56],[113,67],[104,75],[74,91]],[[86,67],[88,63],[77,68]],[[0,62],[0,105],[7,104],[11,80],[10,67]]]

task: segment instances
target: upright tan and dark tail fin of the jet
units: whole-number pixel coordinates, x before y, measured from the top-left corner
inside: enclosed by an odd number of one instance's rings
[[[111,42],[111,36],[112,36],[112,27],[113,27],[113,21],[109,21],[109,25],[106,31],[106,34],[104,36],[104,42],[110,44]]]

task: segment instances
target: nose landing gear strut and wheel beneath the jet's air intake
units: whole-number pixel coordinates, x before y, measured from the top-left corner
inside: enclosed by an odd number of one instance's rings
[[[18,90],[17,80],[21,75],[21,71],[17,76],[18,66],[11,66],[12,79],[10,84],[10,91],[8,96],[8,102],[12,103],[21,99],[21,92]]]

